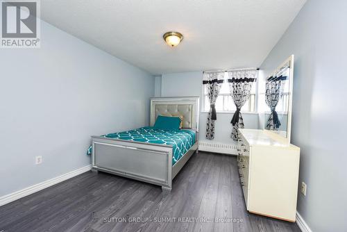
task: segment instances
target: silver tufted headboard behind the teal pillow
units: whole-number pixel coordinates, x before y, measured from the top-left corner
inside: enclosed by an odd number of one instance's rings
[[[158,115],[183,116],[183,129],[198,131],[199,97],[151,98],[151,126]]]

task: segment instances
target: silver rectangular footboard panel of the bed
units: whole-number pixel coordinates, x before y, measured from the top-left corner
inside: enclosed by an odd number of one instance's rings
[[[92,136],[92,168],[172,188],[172,147]]]

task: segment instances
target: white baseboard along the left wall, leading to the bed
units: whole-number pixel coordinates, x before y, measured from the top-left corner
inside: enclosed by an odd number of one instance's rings
[[[80,169],[76,169],[72,172],[68,172],[66,174],[62,174],[61,176],[54,177],[53,179],[49,179],[47,181],[37,183],[35,185],[32,185],[28,188],[24,188],[24,189],[19,190],[17,192],[12,192],[10,194],[2,196],[2,197],[0,197],[0,206],[8,204],[8,203],[15,201],[17,199],[20,199],[22,197],[26,197],[30,194],[33,194],[34,192],[38,192],[40,190],[43,190],[44,188],[48,188],[51,185],[55,185],[55,184],[60,183],[62,181],[66,181],[67,179],[70,179],[74,176],[78,176],[79,174],[83,174],[84,172],[88,172],[90,169],[92,169],[92,165],[87,165],[85,167],[81,167]]]

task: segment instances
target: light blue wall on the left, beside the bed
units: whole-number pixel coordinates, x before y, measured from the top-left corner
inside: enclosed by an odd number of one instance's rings
[[[40,49],[0,51],[0,197],[89,165],[90,135],[149,123],[153,76],[44,22],[41,31]]]

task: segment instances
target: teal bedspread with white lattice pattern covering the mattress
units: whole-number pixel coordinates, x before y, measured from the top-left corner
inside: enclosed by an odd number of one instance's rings
[[[163,130],[146,126],[131,131],[122,131],[101,135],[101,137],[115,140],[129,140],[135,142],[145,142],[152,144],[164,144],[172,146],[172,165],[182,158],[195,143],[195,132],[192,130]],[[87,151],[92,154],[92,147]]]

